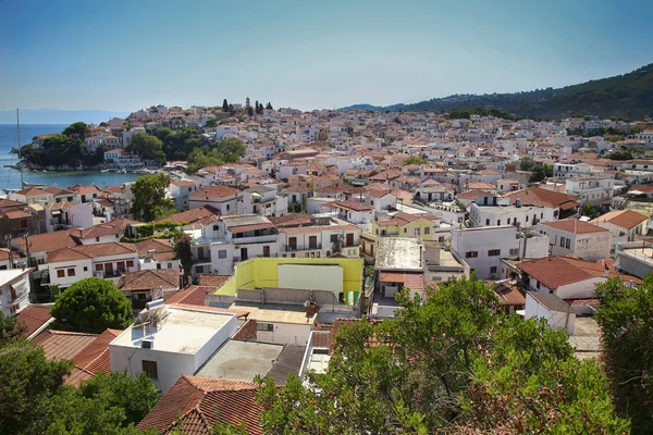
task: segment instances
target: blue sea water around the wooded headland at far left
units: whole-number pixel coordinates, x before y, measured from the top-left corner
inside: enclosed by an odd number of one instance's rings
[[[50,133],[61,133],[67,124],[21,124],[21,144],[32,142],[34,136]],[[19,156],[11,152],[13,147],[19,146],[15,124],[0,124],[0,194],[3,189],[20,189],[21,172],[7,164],[16,164]],[[76,184],[89,186],[96,184],[99,187],[120,186],[123,183],[133,182],[137,174],[121,174],[116,172],[100,171],[71,171],[71,172],[24,172],[25,182],[32,184],[45,184],[48,186],[70,187]]]

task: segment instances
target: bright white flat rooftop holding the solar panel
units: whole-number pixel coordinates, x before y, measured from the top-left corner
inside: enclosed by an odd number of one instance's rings
[[[157,327],[134,327],[133,324],[111,345],[140,348],[147,338],[153,340],[155,350],[194,355],[229,322],[236,322],[235,314],[231,313],[164,307],[168,315]]]

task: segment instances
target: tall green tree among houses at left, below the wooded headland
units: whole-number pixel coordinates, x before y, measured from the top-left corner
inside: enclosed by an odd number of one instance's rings
[[[170,183],[167,174],[139,176],[132,185],[134,196],[131,212],[144,222],[163,217],[173,208],[172,200],[165,198],[165,187]]]

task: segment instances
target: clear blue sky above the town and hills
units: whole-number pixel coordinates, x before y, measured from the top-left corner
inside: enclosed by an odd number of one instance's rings
[[[559,87],[652,63],[652,15],[650,0],[0,0],[0,110]]]

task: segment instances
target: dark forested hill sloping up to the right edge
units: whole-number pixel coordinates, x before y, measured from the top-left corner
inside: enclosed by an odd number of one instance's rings
[[[558,119],[570,114],[653,117],[653,63],[631,73],[586,82],[564,88],[515,94],[453,95],[412,104],[378,107],[355,104],[341,110],[445,111],[492,108],[517,116]]]

